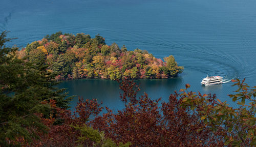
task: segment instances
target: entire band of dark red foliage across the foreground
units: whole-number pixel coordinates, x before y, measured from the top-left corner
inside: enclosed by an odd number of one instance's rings
[[[79,132],[71,125],[83,124],[104,131],[106,137],[116,142],[132,142],[132,146],[224,146],[223,134],[212,133],[196,110],[181,106],[181,94],[175,92],[168,102],[160,104],[161,99],[153,100],[146,93],[137,97],[140,89],[133,81],[123,80],[120,89],[125,108],[113,112],[106,107],[107,112],[102,115],[96,99],[79,99],[74,113],[51,101],[53,113],[42,117],[49,133],[40,134],[41,140],[34,140],[30,146],[75,146]],[[215,95],[208,95],[208,99],[215,104]]]

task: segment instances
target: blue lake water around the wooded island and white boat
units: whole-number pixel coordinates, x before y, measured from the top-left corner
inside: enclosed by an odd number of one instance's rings
[[[141,93],[167,100],[170,93],[191,85],[191,90],[227,96],[229,82],[246,78],[256,85],[256,1],[252,0],[41,0],[0,2],[0,32],[17,37],[12,44],[25,47],[47,34],[85,33],[105,37],[106,43],[130,50],[146,49],[158,58],[173,54],[185,70],[179,78],[138,80]],[[202,86],[206,75],[223,76],[226,83]],[[118,83],[101,79],[65,81],[70,95],[97,98],[119,109]],[[77,102],[77,97],[72,106]]]

